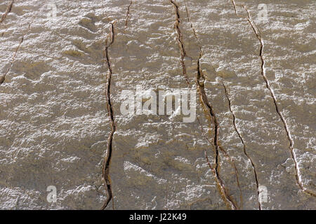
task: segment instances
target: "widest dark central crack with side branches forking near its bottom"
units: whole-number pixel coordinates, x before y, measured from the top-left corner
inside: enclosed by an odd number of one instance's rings
[[[185,2],[185,1],[184,1]],[[230,163],[233,167],[233,169],[235,169],[235,175],[236,175],[236,180],[237,180],[237,186],[239,188],[240,191],[240,202],[242,204],[242,190],[239,186],[239,179],[238,179],[238,174],[237,174],[237,168],[235,165],[234,160],[232,160],[232,158],[230,158],[230,155],[228,155],[228,153],[218,144],[218,122],[217,122],[217,118],[215,113],[213,112],[213,108],[211,106],[211,104],[209,104],[208,99],[206,97],[206,92],[204,90],[204,74],[202,73],[201,69],[200,69],[200,60],[202,58],[202,46],[201,43],[199,42],[199,38],[197,38],[197,33],[195,31],[195,28],[192,25],[192,22],[190,21],[190,15],[189,15],[189,10],[187,9],[187,5],[185,3],[185,10],[187,13],[187,22],[190,22],[190,26],[192,28],[193,34],[197,40],[198,46],[199,46],[199,59],[197,60],[197,76],[196,76],[196,83],[197,83],[197,89],[199,90],[199,96],[200,96],[200,101],[201,104],[204,108],[204,112],[206,113],[207,118],[209,118],[209,122],[210,124],[213,123],[214,124],[214,137],[213,137],[213,143],[209,142],[211,144],[211,146],[213,146],[214,150],[215,150],[215,167],[212,167],[210,162],[209,162],[209,158],[205,153],[205,157],[206,157],[206,161],[210,167],[210,169],[212,170],[214,177],[216,179],[216,183],[218,185],[218,190],[220,192],[221,197],[223,198],[224,202],[228,205],[228,207],[230,209],[238,209],[236,203],[234,202],[234,200],[232,200],[232,197],[230,197],[229,192],[227,190],[227,188],[225,188],[225,185],[223,183],[223,180],[220,178],[220,174],[218,172],[218,158],[219,158],[219,153],[218,153],[218,149],[220,149],[220,151],[223,151],[224,155],[230,160]],[[200,123],[201,125],[201,123]],[[202,125],[201,125],[202,128]],[[207,141],[209,141],[206,138]]]

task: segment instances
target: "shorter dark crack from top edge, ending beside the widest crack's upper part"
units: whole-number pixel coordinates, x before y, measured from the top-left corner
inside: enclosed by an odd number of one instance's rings
[[[173,0],[170,0],[170,2],[173,5],[174,13],[176,15],[176,22],[174,23],[174,29],[176,29],[177,35],[178,35],[177,41],[178,41],[180,53],[181,53],[182,73],[183,73],[183,76],[185,76],[185,80],[187,81],[187,84],[190,85],[190,82],[187,78],[187,69],[185,67],[185,62],[184,62],[184,58],[187,56],[187,53],[185,52],[185,47],[183,45],[182,33],[181,33],[181,30],[179,27],[179,25],[180,25],[179,6]]]

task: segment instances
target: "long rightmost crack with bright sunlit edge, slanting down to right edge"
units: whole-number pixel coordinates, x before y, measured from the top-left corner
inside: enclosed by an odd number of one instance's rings
[[[239,5],[236,4],[234,0],[232,0],[232,4],[234,5],[235,8],[235,13],[237,16],[237,9],[236,6],[242,6],[242,8],[244,8],[244,10],[246,10],[247,13],[247,17],[246,20],[249,22],[249,25],[251,26],[251,28],[254,30],[254,34],[256,34],[256,38],[258,39],[258,41],[260,42],[260,52],[259,52],[259,57],[261,58],[261,76],[263,76],[263,80],[265,81],[265,86],[268,88],[268,90],[270,91],[270,95],[273,99],[273,102],[275,104],[275,110],[277,111],[277,114],[279,115],[280,120],[282,121],[283,125],[284,125],[284,130],[287,134],[287,139],[289,141],[289,151],[291,153],[291,158],[294,160],[294,167],[295,167],[295,171],[296,171],[296,183],[298,184],[299,188],[301,188],[301,190],[303,190],[304,193],[307,193],[310,196],[316,197],[316,193],[312,192],[311,190],[308,190],[307,188],[305,188],[303,186],[303,182],[301,180],[301,174],[300,174],[300,169],[298,167],[298,162],[296,159],[296,155],[294,152],[294,141],[291,137],[291,132],[289,131],[289,127],[287,125],[287,121],[284,119],[281,111],[279,111],[279,106],[277,105],[277,98],[275,97],[275,93],[273,92],[269,80],[267,78],[267,76],[265,76],[265,59],[263,57],[263,47],[264,47],[264,43],[263,43],[263,38],[261,36],[261,31],[260,29],[257,27],[256,23],[254,22],[254,20],[251,19],[249,10],[246,8],[246,6],[244,5]]]

